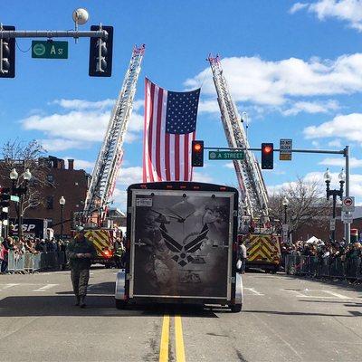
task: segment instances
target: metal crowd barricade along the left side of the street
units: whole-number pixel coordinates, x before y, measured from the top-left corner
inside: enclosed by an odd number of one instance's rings
[[[24,254],[20,255],[14,250],[8,252],[7,271],[12,273],[60,270],[64,265],[64,252],[24,252]]]

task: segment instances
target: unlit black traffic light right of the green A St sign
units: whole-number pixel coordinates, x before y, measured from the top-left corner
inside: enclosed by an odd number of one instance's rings
[[[103,26],[107,39],[90,38],[90,77],[110,77],[112,75],[113,26]],[[91,25],[91,31],[99,31],[99,25]]]

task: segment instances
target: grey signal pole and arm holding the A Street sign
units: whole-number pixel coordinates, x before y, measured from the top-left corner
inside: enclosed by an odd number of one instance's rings
[[[207,148],[204,149],[210,149],[210,150],[229,150],[229,151],[245,151],[246,148]],[[247,148],[250,151],[262,151],[262,148]],[[274,148],[274,152],[280,152],[280,148]],[[314,154],[327,154],[327,155],[343,155],[343,157],[346,158],[346,196],[349,196],[349,146],[346,146],[346,148],[341,150],[331,150],[331,149],[291,149],[291,153],[314,153]],[[348,213],[349,214],[349,213]],[[347,243],[350,243],[350,224],[345,224],[345,239]]]

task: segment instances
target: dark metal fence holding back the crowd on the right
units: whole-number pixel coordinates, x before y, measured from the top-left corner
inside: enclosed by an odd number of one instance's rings
[[[315,278],[362,281],[362,259],[358,257],[319,258],[317,256],[286,255],[285,272]]]

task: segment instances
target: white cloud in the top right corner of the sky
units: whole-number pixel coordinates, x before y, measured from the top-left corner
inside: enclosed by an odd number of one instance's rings
[[[317,15],[319,20],[337,18],[348,23],[348,26],[362,31],[362,0],[319,0],[315,3],[294,4],[290,13],[307,8]]]

